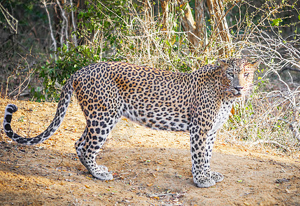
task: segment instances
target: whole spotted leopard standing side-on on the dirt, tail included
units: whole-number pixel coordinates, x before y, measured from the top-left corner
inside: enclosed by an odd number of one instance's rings
[[[189,133],[192,177],[197,187],[222,181],[220,172],[210,170],[218,129],[227,121],[234,102],[249,95],[260,61],[246,58],[218,59],[189,73],[132,65],[128,62],[97,62],[82,67],[67,80],[51,124],[36,137],[21,137],[11,127],[17,106],[5,107],[3,129],[23,145],[41,144],[53,135],[67,112],[71,95],[86,119],[76,141],[78,159],[89,173],[102,181],[113,180],[96,156],[108,134],[124,116],[148,128]]]

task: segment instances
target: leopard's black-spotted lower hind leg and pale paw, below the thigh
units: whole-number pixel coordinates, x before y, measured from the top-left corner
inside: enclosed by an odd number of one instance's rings
[[[100,135],[102,134],[100,132],[97,134],[97,131],[100,131],[100,129],[95,130],[94,128],[89,129],[86,127],[82,137],[76,141],[76,152],[81,163],[95,178],[102,181],[111,180],[113,175],[111,172],[108,172],[106,166],[97,165],[95,161],[97,153],[108,136],[108,134]]]

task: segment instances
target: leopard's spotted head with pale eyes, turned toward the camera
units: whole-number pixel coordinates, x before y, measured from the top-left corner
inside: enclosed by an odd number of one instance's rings
[[[260,61],[250,63],[242,58],[218,61],[223,71],[225,91],[236,98],[247,95],[252,89],[254,71],[259,67]]]

